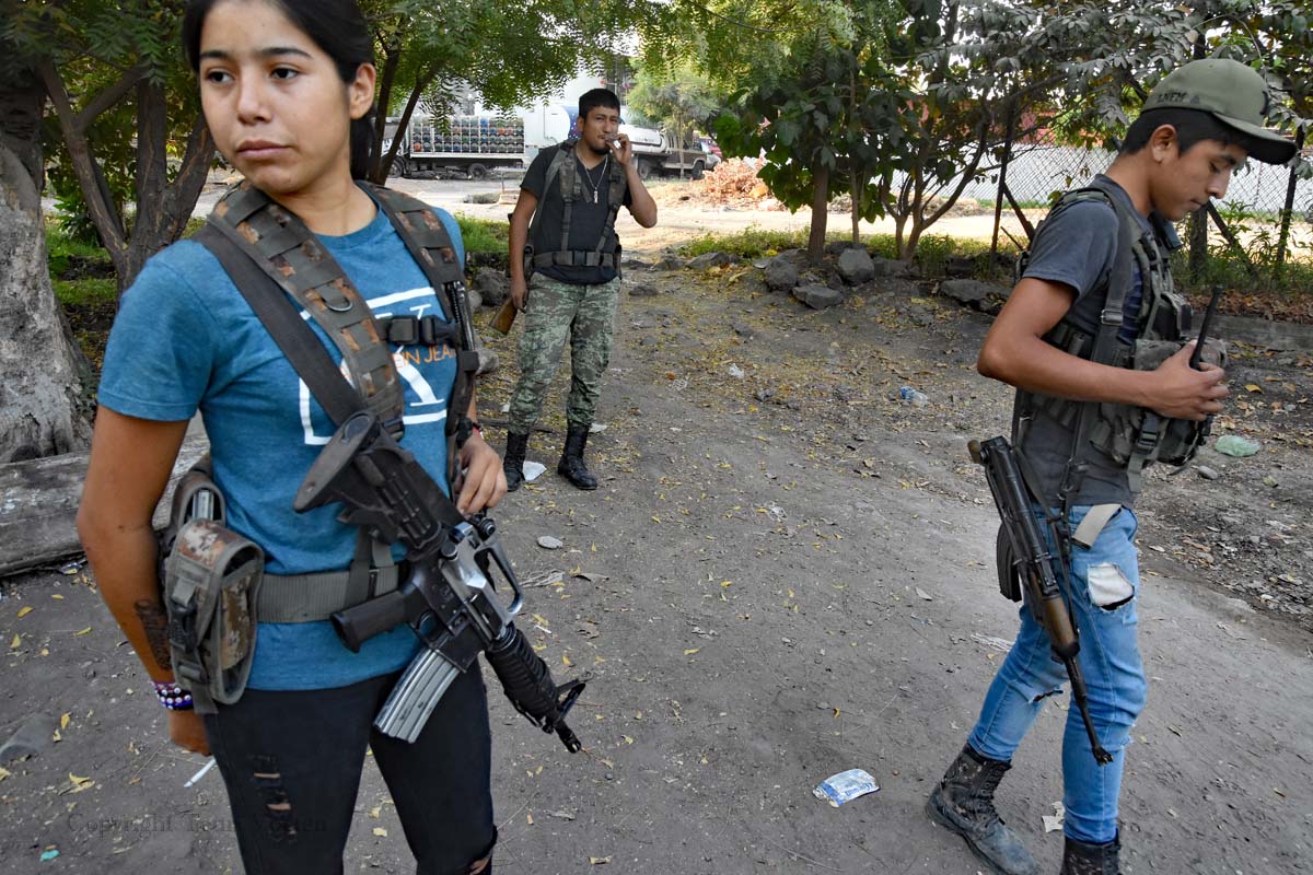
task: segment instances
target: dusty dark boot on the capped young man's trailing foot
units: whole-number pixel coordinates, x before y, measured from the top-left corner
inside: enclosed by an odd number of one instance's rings
[[[930,794],[926,813],[966,840],[966,846],[990,871],[1035,875],[1039,870],[1031,851],[1016,833],[1003,825],[994,809],[994,791],[1011,767],[1011,763],[987,760],[966,745]]]

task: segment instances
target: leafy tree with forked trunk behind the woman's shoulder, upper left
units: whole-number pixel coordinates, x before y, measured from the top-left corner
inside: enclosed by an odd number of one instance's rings
[[[87,216],[119,291],[186,227],[214,142],[181,52],[180,0],[17,0],[0,43],[45,88],[59,130],[56,192]]]

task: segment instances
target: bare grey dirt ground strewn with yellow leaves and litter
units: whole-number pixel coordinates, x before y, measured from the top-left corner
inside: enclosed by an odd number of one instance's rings
[[[499,872],[978,871],[922,803],[1016,630],[965,451],[1010,403],[974,373],[987,317],[905,279],[813,312],[756,277],[630,269],[626,289],[656,294],[621,303],[590,443],[601,488],[554,475],[562,370],[530,443],[548,472],[496,514],[532,585],[521,628],[558,680],[590,678],[571,756],[487,674]],[[487,336],[495,443],[517,332]],[[1128,872],[1313,871],[1310,366],[1239,349],[1215,434],[1260,453],[1205,451],[1216,480],[1154,471],[1140,506],[1150,701],[1123,792]],[[928,403],[898,401],[905,384]],[[240,871],[218,774],[184,787],[204,758],[164,741],[93,581],[67,571],[0,589],[0,740],[32,715],[59,736],[0,773],[0,871]],[[999,798],[1054,872],[1065,707]],[[813,798],[852,767],[880,791]],[[412,871],[369,763],[357,811],[347,870]]]

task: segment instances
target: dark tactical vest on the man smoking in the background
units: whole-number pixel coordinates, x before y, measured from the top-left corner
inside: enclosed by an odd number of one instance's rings
[[[557,148],[548,164],[542,181],[542,201],[548,199],[551,185],[558,184],[562,201],[561,214],[561,244],[555,252],[536,252],[533,241],[537,239],[538,228],[542,224],[544,209],[538,209],[529,220],[529,243],[524,248],[524,275],[530,277],[538,268],[566,266],[566,268],[609,268],[618,273],[620,269],[620,240],[616,237],[616,216],[620,214],[621,203],[625,199],[628,181],[625,168],[620,161],[609,161],[608,188],[607,188],[607,224],[597,237],[597,245],[592,249],[579,251],[570,248],[570,222],[574,215],[574,205],[587,198],[583,180],[579,176],[579,163],[575,160],[575,143],[566,140]],[[593,193],[596,194],[596,192]]]

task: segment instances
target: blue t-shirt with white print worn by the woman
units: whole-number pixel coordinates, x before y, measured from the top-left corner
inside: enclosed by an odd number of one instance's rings
[[[463,264],[456,220],[442,210],[435,213]],[[432,286],[381,210],[360,231],[319,240],[376,315],[442,317]],[[303,316],[340,365],[337,348]],[[406,391],[402,445],[445,485],[446,403],[456,352],[398,346],[395,362]],[[357,530],[337,522],[339,505],[307,513],[291,509],[297,487],[334,434],[332,421],[201,244],[183,240],[164,249],[123,293],[105,349],[100,403],[125,416],[163,421],[188,420],[201,411],[214,481],[227,500],[227,525],[264,548],[268,573],[351,564]],[[260,623],[249,686],[345,686],[403,668],[418,647],[406,626],[352,653],[328,621]]]

